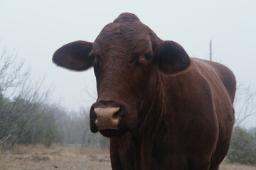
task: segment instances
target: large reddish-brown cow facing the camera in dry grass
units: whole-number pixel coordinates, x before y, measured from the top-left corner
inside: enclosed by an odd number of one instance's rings
[[[53,62],[73,71],[93,67],[90,130],[110,137],[112,169],[216,170],[227,154],[233,72],[189,57],[136,15],[120,14],[95,42],[63,45]]]

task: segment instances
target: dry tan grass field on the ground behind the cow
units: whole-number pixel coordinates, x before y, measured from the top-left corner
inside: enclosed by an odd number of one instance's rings
[[[0,150],[1,170],[109,170],[110,156],[107,149],[80,149],[68,145],[53,147],[21,146],[11,151]],[[256,170],[256,166],[228,164],[224,162],[220,170]]]

